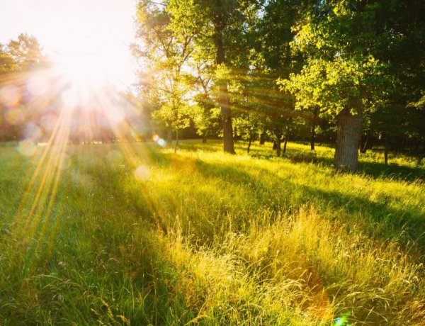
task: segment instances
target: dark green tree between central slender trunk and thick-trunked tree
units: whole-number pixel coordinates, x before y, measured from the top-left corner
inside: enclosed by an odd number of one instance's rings
[[[267,130],[274,140],[276,155],[280,156],[280,143],[288,142],[295,121],[300,114],[294,111],[295,101],[289,92],[280,92],[276,79],[288,78],[299,72],[303,57],[291,51],[294,40],[293,26],[299,24],[314,1],[266,1],[257,13],[255,40],[251,49],[250,102],[257,115],[263,116],[261,140]],[[283,148],[285,151],[285,146]]]

